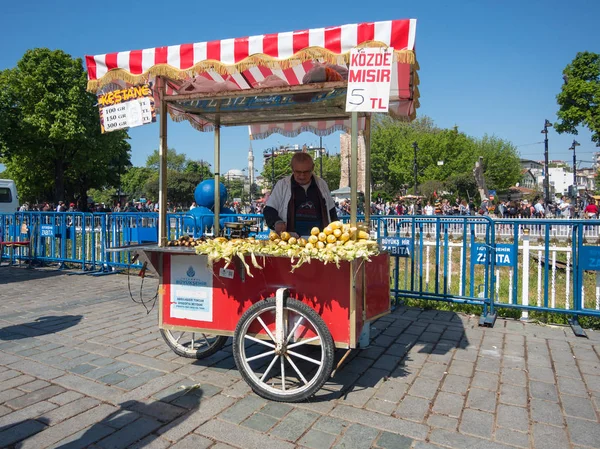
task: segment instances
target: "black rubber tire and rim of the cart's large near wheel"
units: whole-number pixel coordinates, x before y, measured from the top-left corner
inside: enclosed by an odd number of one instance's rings
[[[245,335],[252,321],[266,311],[272,310],[275,312],[275,307],[275,298],[268,298],[257,302],[246,310],[240,318],[233,336],[233,358],[238,371],[257,395],[272,401],[301,402],[309,399],[320,390],[331,376],[335,358],[335,345],[327,325],[314,309],[296,299],[285,299],[283,304],[284,310],[291,310],[294,313],[303,316],[318,333],[321,347],[321,365],[317,369],[315,375],[310,378],[307,385],[289,392],[283,392],[281,390],[275,391],[273,387],[270,387],[266,382],[261,381],[254,371],[252,371],[249,364],[246,362],[244,345]],[[281,358],[281,356],[276,357],[278,357],[278,359]],[[296,359],[296,362],[297,361],[298,359]]]

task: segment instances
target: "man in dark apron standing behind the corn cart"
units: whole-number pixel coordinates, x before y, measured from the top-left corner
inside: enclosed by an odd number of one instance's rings
[[[308,153],[292,157],[292,174],[279,180],[263,210],[269,228],[278,234],[287,231],[310,235],[338,219],[327,183],[313,174],[315,164]]]

